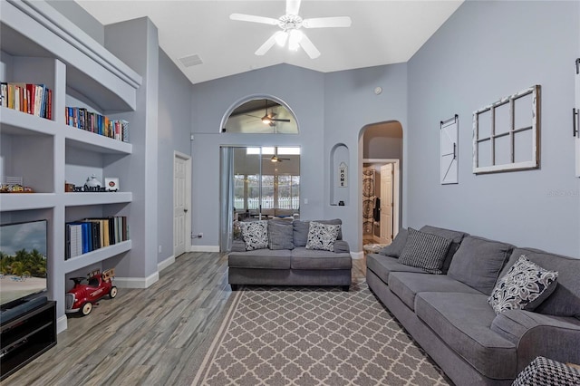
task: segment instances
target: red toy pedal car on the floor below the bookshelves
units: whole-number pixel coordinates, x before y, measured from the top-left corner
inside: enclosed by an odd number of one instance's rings
[[[92,304],[105,295],[111,299],[117,296],[117,287],[112,285],[114,269],[108,269],[101,274],[100,270],[92,271],[85,277],[72,277],[73,288],[66,293],[66,313],[91,314]]]

